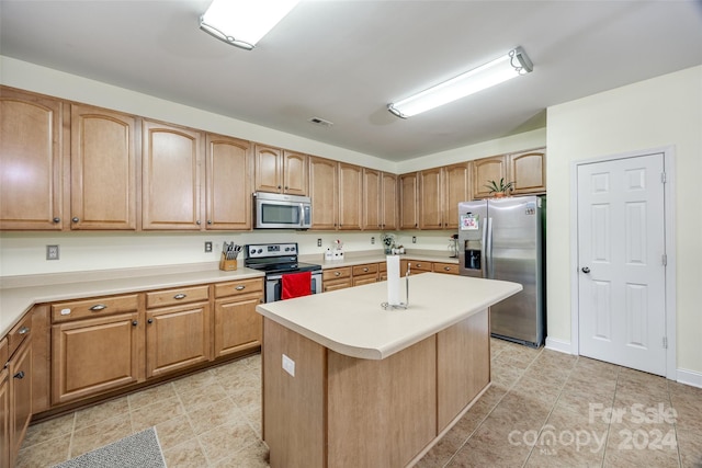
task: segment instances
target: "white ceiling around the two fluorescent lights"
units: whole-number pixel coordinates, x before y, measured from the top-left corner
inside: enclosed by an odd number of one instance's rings
[[[0,54],[390,161],[543,127],[550,105],[702,64],[702,1],[308,0],[252,52],[200,31],[208,4],[2,0]],[[532,73],[409,119],[387,112],[516,46]]]

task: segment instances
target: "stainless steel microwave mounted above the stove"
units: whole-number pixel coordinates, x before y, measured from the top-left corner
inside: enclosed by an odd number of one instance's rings
[[[254,229],[309,229],[312,201],[308,196],[253,193]]]

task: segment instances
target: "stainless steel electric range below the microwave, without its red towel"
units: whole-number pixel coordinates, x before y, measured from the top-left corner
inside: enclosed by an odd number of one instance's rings
[[[321,265],[299,263],[297,243],[257,243],[244,249],[244,265],[265,273],[265,301],[281,300],[283,275],[310,272],[312,293],[321,293]]]

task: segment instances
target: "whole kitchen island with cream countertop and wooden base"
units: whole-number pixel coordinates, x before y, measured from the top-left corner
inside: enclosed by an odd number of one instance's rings
[[[404,296],[403,279],[403,297]],[[490,383],[488,307],[516,283],[426,273],[259,305],[263,440],[276,467],[404,467]]]

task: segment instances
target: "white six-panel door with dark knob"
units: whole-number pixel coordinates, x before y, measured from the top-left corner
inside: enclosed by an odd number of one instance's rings
[[[666,375],[664,155],[577,169],[584,356]]]

